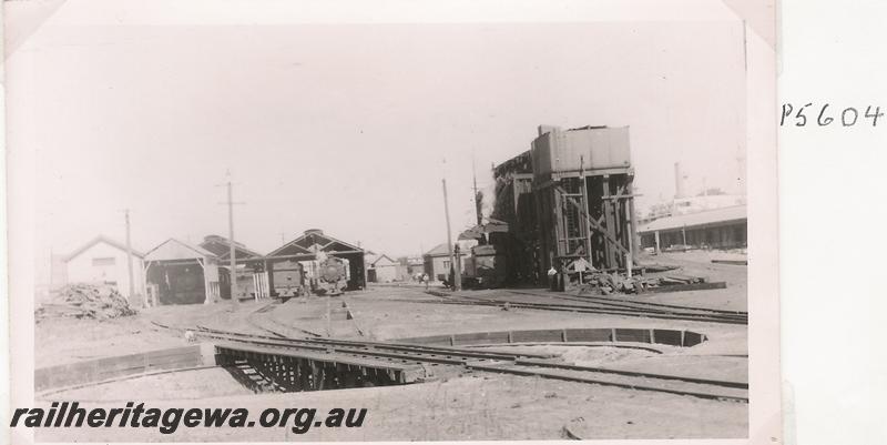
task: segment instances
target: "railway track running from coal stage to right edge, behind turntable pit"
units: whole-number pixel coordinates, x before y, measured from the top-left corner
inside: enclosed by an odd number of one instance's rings
[[[536,295],[547,296],[547,295]],[[539,302],[521,302],[516,300],[500,300],[487,299],[481,296],[448,296],[446,300],[408,300],[399,299],[391,301],[402,301],[419,304],[455,304],[455,305],[470,305],[470,306],[495,306],[502,307],[508,305],[514,309],[530,309],[539,311],[555,311],[555,312],[575,312],[602,315],[619,315],[619,316],[636,316],[662,320],[681,320],[703,323],[725,323],[725,324],[748,324],[747,315],[740,314],[722,314],[707,312],[696,307],[687,307],[681,310],[674,309],[656,309],[644,306],[632,306],[630,304],[613,303],[613,302],[599,302],[590,301],[583,302],[584,304],[560,304],[560,303],[539,303]],[[633,303],[633,302],[632,302]]]

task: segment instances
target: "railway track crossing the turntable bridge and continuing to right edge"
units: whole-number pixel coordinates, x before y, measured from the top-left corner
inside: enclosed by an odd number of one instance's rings
[[[445,346],[421,346],[335,338],[281,338],[198,326],[197,335],[271,348],[371,357],[424,366],[461,367],[498,374],[538,376],[568,382],[652,391],[718,401],[748,402],[748,385],[737,382],[629,372],[552,362],[550,354],[479,352]]]

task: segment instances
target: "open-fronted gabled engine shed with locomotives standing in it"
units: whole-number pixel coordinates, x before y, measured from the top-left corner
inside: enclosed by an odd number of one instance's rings
[[[293,272],[304,270],[313,276],[318,253],[345,260],[348,264],[349,291],[366,287],[366,267],[364,255],[366,252],[350,243],[324,234],[320,229],[306,230],[297,239],[275,249],[265,256],[265,270],[268,272],[269,287],[275,289],[275,280],[283,282]]]

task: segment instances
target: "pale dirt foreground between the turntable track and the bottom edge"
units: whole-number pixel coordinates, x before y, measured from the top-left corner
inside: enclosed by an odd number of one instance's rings
[[[304,435],[289,427],[184,428],[160,435],[153,428],[41,429],[40,441],[482,441],[559,439],[563,426],[583,418],[583,438],[746,437],[747,405],[659,393],[632,392],[542,378],[467,375],[449,381],[397,387],[314,393],[233,395],[200,401],[157,401],[150,385],[118,388],[123,400],[149,407],[246,407],[257,415],[268,407],[310,407],[318,415],[334,407],[365,407],[360,428],[312,428]],[[111,393],[111,394],[114,394]]]

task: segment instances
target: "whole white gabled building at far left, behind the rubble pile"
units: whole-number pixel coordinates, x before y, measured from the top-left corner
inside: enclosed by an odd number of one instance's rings
[[[130,295],[130,273],[126,256],[126,245],[104,235],[92,239],[80,249],[64,257],[64,279],[53,265],[53,281],[63,280],[68,283],[101,283],[116,287],[121,295],[132,297],[141,295],[142,289],[142,260],[144,254],[132,251],[133,294]]]

